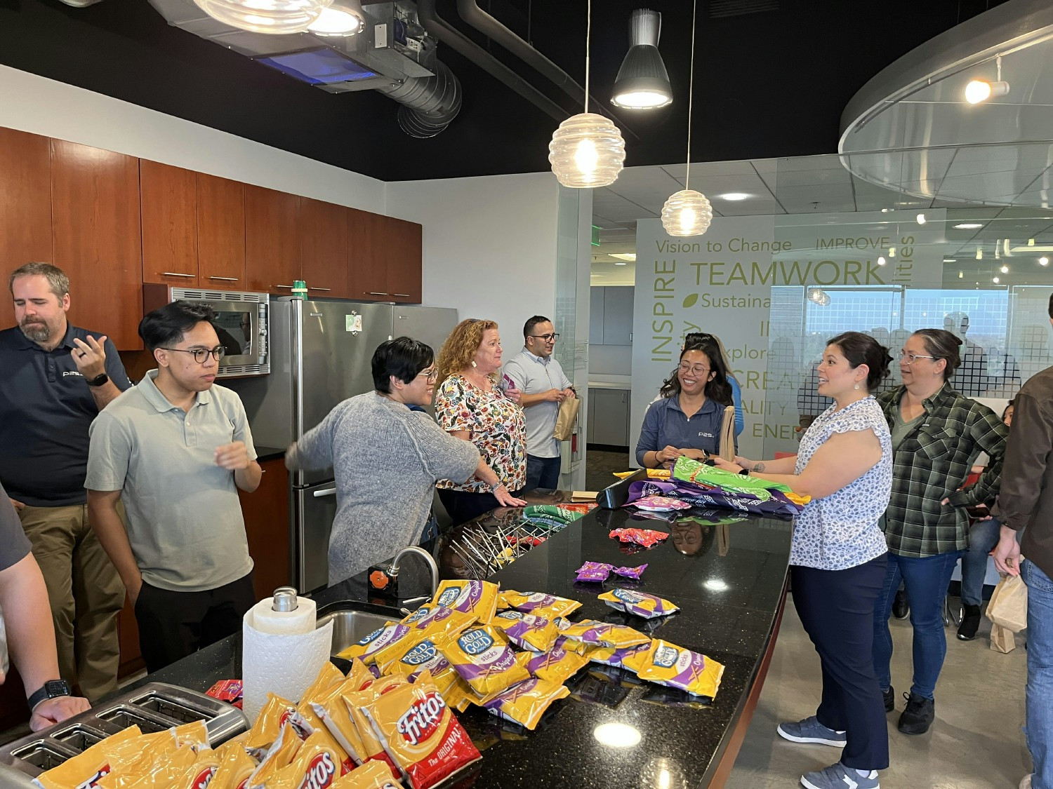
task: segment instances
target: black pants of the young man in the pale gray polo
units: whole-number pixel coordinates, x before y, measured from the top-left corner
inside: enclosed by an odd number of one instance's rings
[[[216,589],[178,592],[143,583],[135,602],[139,648],[154,672],[241,629],[256,604],[253,573]]]

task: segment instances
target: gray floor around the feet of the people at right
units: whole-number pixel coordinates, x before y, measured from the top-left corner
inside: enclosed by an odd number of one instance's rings
[[[907,736],[896,730],[903,709],[901,691],[911,684],[911,628],[892,621],[896,651],[893,686],[896,712],[889,714],[891,766],[881,773],[886,789],[1015,789],[1031,771],[1024,745],[1025,636],[1008,654],[990,647],[985,618],[975,641],[961,642],[947,629],[947,662],[936,687],[936,722],[928,733]],[[800,620],[787,601],[768,679],[739,751],[728,789],[797,786],[801,773],[839,757],[834,748],[795,745],[775,733],[780,721],[815,713],[819,701],[819,659]]]

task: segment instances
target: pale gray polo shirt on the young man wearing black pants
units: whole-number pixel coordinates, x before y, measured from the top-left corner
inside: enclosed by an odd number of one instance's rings
[[[151,370],[92,423],[88,490],[120,490],[127,534],[143,581],[172,591],[205,591],[253,569],[234,472],[216,448],[243,441],[256,459],[249,420],[231,389],[198,392],[184,412]]]

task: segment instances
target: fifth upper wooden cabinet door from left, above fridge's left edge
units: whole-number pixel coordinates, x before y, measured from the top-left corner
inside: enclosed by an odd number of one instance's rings
[[[300,279],[296,195],[245,186],[245,272],[250,290],[290,296]]]

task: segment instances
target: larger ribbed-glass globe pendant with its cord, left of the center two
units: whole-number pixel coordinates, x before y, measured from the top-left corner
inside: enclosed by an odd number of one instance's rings
[[[592,36],[592,0],[585,27],[584,112],[559,124],[549,143],[552,171],[563,186],[590,189],[610,186],[625,161],[625,141],[609,119],[589,112],[589,39]]]

